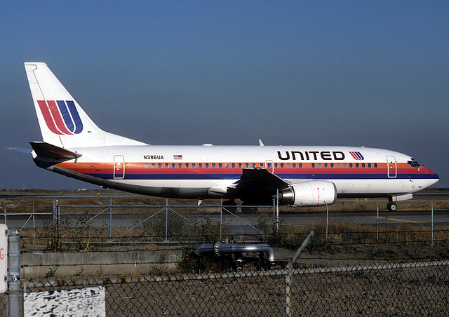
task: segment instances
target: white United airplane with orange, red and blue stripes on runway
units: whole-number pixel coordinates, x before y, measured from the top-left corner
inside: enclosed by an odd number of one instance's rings
[[[36,166],[77,180],[168,198],[222,198],[243,213],[255,205],[320,206],[337,197],[397,201],[438,182],[411,156],[342,146],[150,145],[95,125],[43,62],[25,62],[43,142],[30,142]]]

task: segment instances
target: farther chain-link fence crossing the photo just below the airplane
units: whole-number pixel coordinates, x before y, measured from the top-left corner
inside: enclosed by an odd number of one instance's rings
[[[434,231],[449,225],[445,197],[435,203],[418,199],[417,206],[426,211],[410,211],[401,216],[379,210],[375,201],[366,199],[355,202],[343,199],[330,208],[315,208],[313,213],[308,213],[307,208],[278,208],[274,203],[258,207],[256,213],[249,214],[243,213],[240,207],[221,205],[220,201],[209,206],[169,205],[165,199],[157,202],[165,202],[165,205],[148,204],[155,203],[153,200],[142,196],[114,197],[115,203],[110,197],[96,196],[5,200],[4,223],[20,229],[28,245],[43,245],[46,250],[93,250],[105,245],[187,245],[226,240],[252,243],[269,241],[274,233],[292,231],[292,228],[305,231],[322,227],[327,238],[328,234],[333,234],[333,224],[343,222],[375,228],[376,241],[382,241],[389,229],[402,224],[421,226],[433,239]],[[435,213],[434,205],[438,205]],[[372,207],[377,213],[340,214],[335,211],[372,210]],[[254,208],[246,210],[254,211]]]

